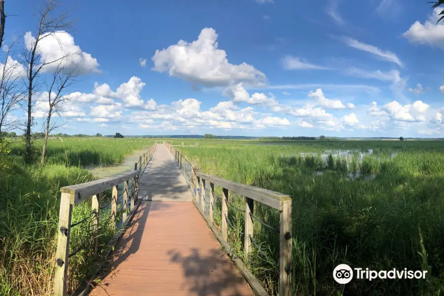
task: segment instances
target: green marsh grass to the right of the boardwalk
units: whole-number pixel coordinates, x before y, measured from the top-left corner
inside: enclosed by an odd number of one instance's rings
[[[444,142],[198,142],[199,148],[179,147],[198,170],[293,196],[294,295],[443,293]],[[355,151],[333,156],[345,149]],[[370,155],[360,156],[369,149]],[[332,155],[322,154],[326,150]],[[323,174],[316,174],[319,171]],[[349,178],[353,172],[362,175]],[[376,177],[367,181],[369,173]],[[243,214],[229,211],[233,224],[242,228]],[[279,225],[276,211],[257,211],[269,224]],[[241,257],[242,238],[237,231],[229,233]],[[260,224],[255,224],[255,237],[268,255],[253,253],[252,269],[263,286],[275,292],[278,269],[272,260],[279,258],[278,237]],[[340,286],[332,275],[340,263],[373,270],[427,269],[431,277],[354,280]]]

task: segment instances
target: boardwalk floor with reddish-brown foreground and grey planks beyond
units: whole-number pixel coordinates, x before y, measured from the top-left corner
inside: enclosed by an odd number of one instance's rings
[[[163,145],[140,180],[139,198],[145,200],[112,254],[113,269],[91,296],[253,295],[191,202]]]

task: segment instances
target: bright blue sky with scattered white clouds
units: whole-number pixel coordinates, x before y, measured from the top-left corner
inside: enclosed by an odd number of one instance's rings
[[[41,43],[84,70],[59,131],[442,137],[444,25],[427,1],[157,2],[78,0],[62,49]],[[36,35],[35,1],[5,6],[6,44]]]

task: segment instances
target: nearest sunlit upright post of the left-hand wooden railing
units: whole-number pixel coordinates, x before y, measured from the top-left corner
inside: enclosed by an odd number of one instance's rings
[[[59,226],[57,228],[56,270],[54,276],[54,296],[66,296],[68,256],[70,251],[71,212],[74,193],[62,192],[60,200]]]

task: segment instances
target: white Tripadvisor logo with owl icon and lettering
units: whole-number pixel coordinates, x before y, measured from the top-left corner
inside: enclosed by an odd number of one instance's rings
[[[353,272],[354,270],[354,272]],[[333,279],[339,284],[347,284],[353,279],[353,274],[358,280],[374,280],[374,279],[425,279],[427,270],[370,270],[369,268],[355,267],[351,268],[347,264],[339,264],[333,270]]]

